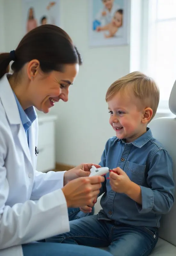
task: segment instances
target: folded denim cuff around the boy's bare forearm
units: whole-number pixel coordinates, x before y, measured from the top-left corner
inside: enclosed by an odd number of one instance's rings
[[[148,213],[151,212],[154,205],[154,195],[151,188],[146,188],[140,186],[141,189],[141,196],[142,196],[142,205],[136,203],[138,212],[140,213]]]

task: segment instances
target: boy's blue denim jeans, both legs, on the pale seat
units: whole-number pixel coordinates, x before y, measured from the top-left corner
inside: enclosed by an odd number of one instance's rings
[[[147,256],[158,240],[157,228],[136,227],[118,221],[98,220],[98,215],[70,222],[70,232],[47,242],[107,247],[114,256]]]

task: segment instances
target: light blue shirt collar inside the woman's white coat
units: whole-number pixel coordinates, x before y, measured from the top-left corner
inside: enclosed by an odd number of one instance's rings
[[[20,114],[21,123],[24,127],[24,130],[26,132],[26,137],[27,137],[27,140],[28,140],[28,129],[37,117],[36,111],[35,111],[33,106],[23,110],[23,108],[21,107],[21,104],[20,104],[19,100],[17,99],[14,92],[13,92],[13,94],[15,96],[15,100],[16,100],[16,103],[17,103],[17,106],[18,106],[18,111],[19,111],[19,114]]]

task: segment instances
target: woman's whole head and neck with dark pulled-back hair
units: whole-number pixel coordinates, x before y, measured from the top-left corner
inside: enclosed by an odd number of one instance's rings
[[[81,55],[68,34],[50,24],[28,32],[16,50],[5,53],[4,63],[10,60],[13,74],[8,75],[8,80],[21,107],[25,110],[34,106],[44,113],[59,100],[68,101],[69,86],[82,65]],[[5,68],[0,77],[4,72]]]

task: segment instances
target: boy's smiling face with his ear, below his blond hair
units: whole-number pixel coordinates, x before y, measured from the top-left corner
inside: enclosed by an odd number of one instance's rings
[[[147,124],[152,116],[151,108],[142,108],[135,96],[117,92],[108,100],[110,113],[109,123],[116,132],[118,139],[132,142],[146,132]]]

